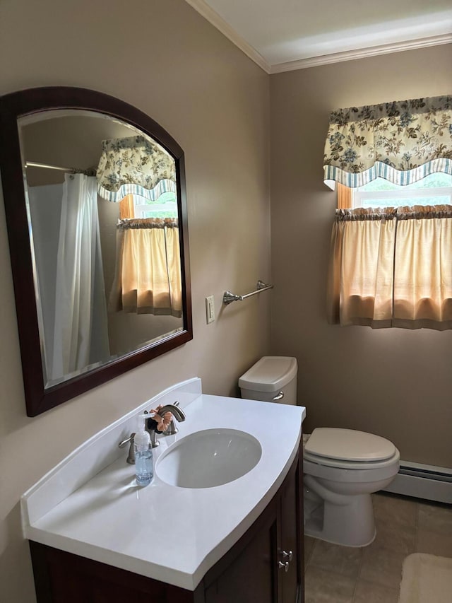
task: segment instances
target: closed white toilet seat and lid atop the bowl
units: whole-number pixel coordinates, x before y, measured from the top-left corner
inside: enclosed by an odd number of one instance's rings
[[[305,460],[340,469],[379,469],[397,457],[386,438],[352,429],[316,428],[304,445]]]

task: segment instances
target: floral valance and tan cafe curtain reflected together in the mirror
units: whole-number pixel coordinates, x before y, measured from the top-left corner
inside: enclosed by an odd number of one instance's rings
[[[182,316],[179,223],[136,215],[136,207],[145,208],[145,216],[174,192],[175,176],[172,157],[144,136],[102,141],[98,191],[119,201],[120,213],[110,312]]]

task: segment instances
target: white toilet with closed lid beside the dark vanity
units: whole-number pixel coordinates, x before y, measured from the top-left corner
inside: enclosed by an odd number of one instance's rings
[[[263,356],[239,378],[242,398],[297,404],[297,373],[296,358]],[[372,433],[317,427],[304,434],[304,534],[345,546],[371,544],[370,495],[393,481],[399,460],[396,446]]]

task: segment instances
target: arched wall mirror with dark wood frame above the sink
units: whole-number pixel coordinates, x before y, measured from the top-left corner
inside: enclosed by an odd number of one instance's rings
[[[184,153],[81,88],[0,98],[28,416],[192,339]]]

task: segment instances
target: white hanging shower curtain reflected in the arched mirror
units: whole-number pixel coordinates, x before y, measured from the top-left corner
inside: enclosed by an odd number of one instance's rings
[[[68,174],[61,206],[54,353],[47,376],[59,380],[108,358],[97,181]]]

